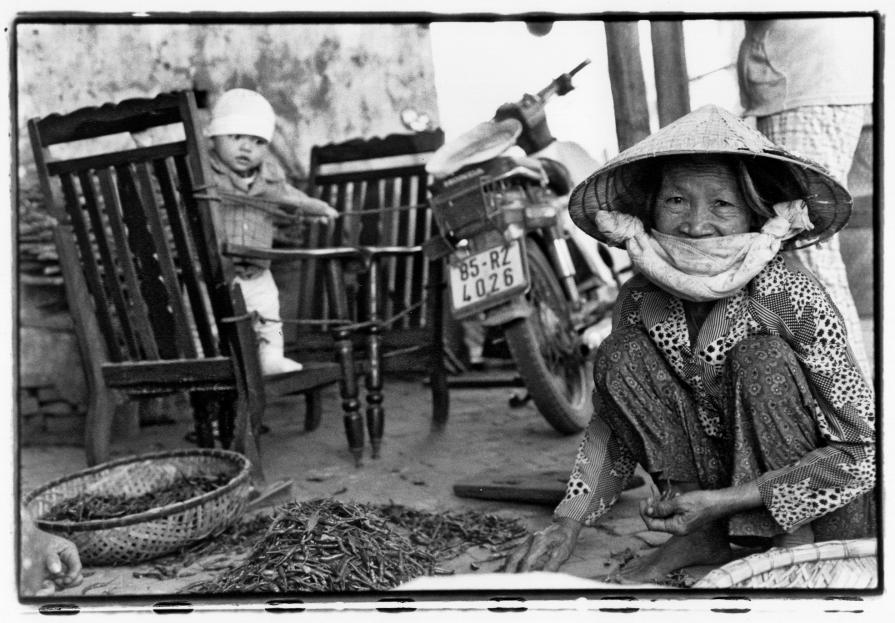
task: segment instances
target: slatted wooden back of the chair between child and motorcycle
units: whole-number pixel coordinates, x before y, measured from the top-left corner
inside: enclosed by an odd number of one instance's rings
[[[430,238],[436,224],[428,204],[431,180],[425,163],[443,144],[444,133],[434,130],[314,147],[312,192],[342,214],[335,242],[406,249]],[[419,343],[419,332],[413,330],[425,329],[429,322],[432,310],[427,309],[425,287],[431,270],[422,253],[382,258],[380,316],[392,318],[422,304],[391,325],[386,343]]]

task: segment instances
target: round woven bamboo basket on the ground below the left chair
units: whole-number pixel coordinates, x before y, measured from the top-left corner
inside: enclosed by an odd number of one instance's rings
[[[189,449],[143,454],[103,463],[54,480],[25,498],[37,527],[70,539],[86,565],[131,564],[162,556],[218,533],[244,510],[249,461],[227,450]],[[75,496],[136,497],[170,484],[177,475],[231,476],[227,484],[182,502],[114,519],[47,521],[55,504]]]

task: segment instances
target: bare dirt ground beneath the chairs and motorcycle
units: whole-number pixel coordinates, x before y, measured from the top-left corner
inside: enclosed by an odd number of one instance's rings
[[[872,331],[866,337],[872,346]],[[426,511],[474,509],[520,518],[528,528],[540,529],[551,520],[551,506],[470,499],[453,491],[458,481],[486,471],[525,475],[571,468],[580,436],[556,433],[531,403],[511,407],[509,399],[518,392],[508,387],[452,389],[448,424],[443,431],[433,432],[428,388],[417,378],[387,378],[382,456],[371,459],[368,446],[359,468],[348,451],[335,388],[326,394],[323,423],[310,433],[304,430],[302,401],[270,404],[265,416],[270,431],[262,436],[264,469],[271,481],[293,481],[288,496],[276,502],[332,497],[391,501]],[[170,415],[173,423],[144,427],[138,436],[117,440],[113,458],[190,447],[184,440],[191,429],[189,414]],[[30,445],[20,450],[19,458],[22,494],[86,467],[83,448],[75,445]],[[667,538],[645,531],[637,514],[638,501],[647,494],[648,486],[647,482],[625,492],[598,527],[584,529],[573,556],[560,569],[566,575],[558,578],[602,578],[620,562]],[[495,571],[500,561],[488,561],[489,555],[470,550],[448,567],[457,574]],[[197,567],[174,579],[136,577],[151,567],[144,563],[88,568],[81,586],[57,593],[53,601],[66,596],[173,595],[213,575],[213,571]],[[688,569],[687,579],[695,580],[708,570]]]

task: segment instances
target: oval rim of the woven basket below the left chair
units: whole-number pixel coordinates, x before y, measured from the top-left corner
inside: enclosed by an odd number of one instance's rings
[[[162,517],[167,517],[169,515],[173,515],[178,512],[186,511],[191,508],[195,508],[197,506],[201,506],[206,502],[209,502],[213,499],[221,497],[225,494],[231,493],[237,487],[241,486],[244,481],[249,478],[249,470],[251,469],[251,463],[248,458],[239,452],[234,452],[232,450],[220,450],[217,448],[193,448],[193,449],[181,449],[181,450],[165,450],[161,452],[151,452],[147,454],[137,454],[129,457],[123,457],[120,459],[116,459],[114,461],[108,461],[106,463],[100,463],[99,465],[94,465],[93,467],[88,467],[87,469],[80,470],[73,474],[69,474],[67,476],[63,476],[61,478],[57,478],[47,484],[38,487],[31,493],[25,496],[23,500],[23,504],[27,507],[31,504],[38,496],[46,493],[47,491],[58,487],[61,484],[66,482],[70,482],[72,480],[76,480],[78,478],[83,478],[84,476],[96,474],[102,471],[106,471],[108,469],[114,467],[120,467],[121,465],[127,465],[129,463],[142,463],[147,460],[158,460],[164,458],[172,458],[172,457],[189,457],[189,456],[209,456],[215,458],[222,458],[233,461],[235,463],[241,464],[239,472],[223,487],[219,487],[213,491],[208,491],[203,493],[202,495],[198,495],[181,502],[175,502],[173,504],[166,504],[165,506],[160,506],[158,508],[153,508],[147,511],[143,511],[141,513],[134,513],[132,515],[124,515],[122,517],[116,517],[114,519],[91,519],[88,521],[47,521],[39,518],[35,519],[37,526],[48,532],[90,532],[95,530],[106,530],[110,528],[122,528],[125,526],[131,526],[138,523],[143,523],[146,521],[152,521],[155,519],[159,519]]]

